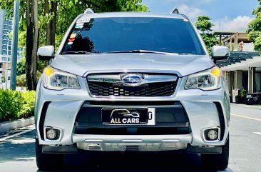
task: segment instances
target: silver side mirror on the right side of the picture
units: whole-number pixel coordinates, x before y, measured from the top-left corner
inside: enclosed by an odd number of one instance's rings
[[[226,60],[230,56],[230,51],[226,46],[213,46],[211,56],[216,63],[218,60]]]

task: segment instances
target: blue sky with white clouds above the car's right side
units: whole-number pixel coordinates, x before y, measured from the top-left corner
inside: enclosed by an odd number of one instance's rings
[[[245,31],[255,16],[257,0],[143,0],[151,12],[170,13],[178,8],[193,22],[200,15],[210,16],[214,31]]]

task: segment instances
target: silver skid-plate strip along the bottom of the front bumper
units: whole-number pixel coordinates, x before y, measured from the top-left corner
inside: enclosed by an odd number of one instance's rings
[[[191,135],[73,135],[77,147],[88,151],[168,151],[185,149]]]

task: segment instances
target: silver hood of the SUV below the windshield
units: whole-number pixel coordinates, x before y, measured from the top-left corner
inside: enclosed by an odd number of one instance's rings
[[[210,69],[215,64],[206,55],[84,54],[58,55],[51,66],[83,76],[88,71],[176,71],[179,76]]]

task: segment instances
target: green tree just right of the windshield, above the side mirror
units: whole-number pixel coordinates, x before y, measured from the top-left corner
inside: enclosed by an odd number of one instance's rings
[[[195,22],[195,26],[200,31],[200,35],[205,42],[205,46],[208,49],[208,53],[211,54],[211,49],[213,46],[218,45],[217,36],[212,33],[211,18],[209,16],[198,16],[198,21]]]

